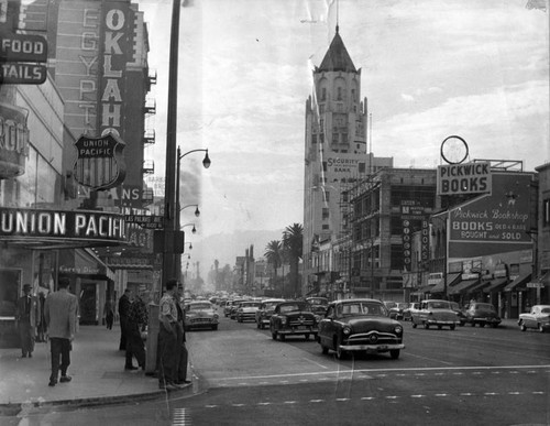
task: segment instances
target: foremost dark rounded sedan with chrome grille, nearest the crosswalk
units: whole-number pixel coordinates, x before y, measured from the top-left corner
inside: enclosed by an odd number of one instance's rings
[[[340,359],[346,352],[389,352],[399,358],[403,343],[403,326],[389,318],[380,301],[351,298],[329,304],[327,315],[319,323],[317,341],[322,353],[333,350]]]

